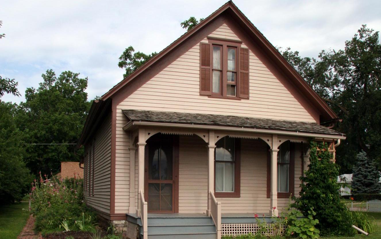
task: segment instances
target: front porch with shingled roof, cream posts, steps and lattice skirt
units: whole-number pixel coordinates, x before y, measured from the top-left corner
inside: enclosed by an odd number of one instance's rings
[[[308,137],[332,142],[339,137],[326,135],[329,129],[312,123],[292,122],[290,127],[297,132],[290,132],[285,131],[284,122],[280,123],[282,126],[276,126],[279,122],[266,122],[283,129],[275,131],[258,129],[259,126],[215,126],[218,124],[215,119],[213,125],[185,124],[181,119],[183,115],[189,118],[200,114],[176,113],[171,119],[160,115],[168,112],[144,112],[146,118],[141,112],[124,111],[130,121],[123,130],[130,134],[130,158],[136,159],[130,160],[127,215],[131,223],[139,225],[144,239],[149,235],[168,238],[164,235],[178,236],[180,232],[187,235],[182,238],[255,233],[258,231],[255,213],[259,217],[265,214],[268,219],[277,216],[278,209],[287,205],[290,194],[298,193],[299,177],[307,166]],[[244,120],[250,123],[250,118]],[[303,132],[308,129],[322,132]],[[227,139],[233,142],[233,146],[225,147],[230,158],[216,159],[219,155],[216,149],[224,149],[221,142],[227,145]],[[287,166],[287,180],[279,181],[278,152],[286,144],[287,160],[283,162],[280,157],[280,161]],[[221,165],[222,181],[218,176]],[[284,189],[278,192],[280,186]]]

